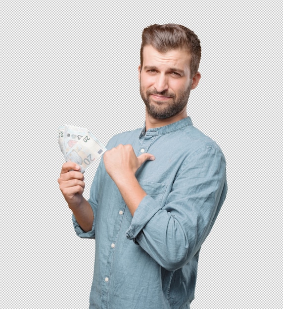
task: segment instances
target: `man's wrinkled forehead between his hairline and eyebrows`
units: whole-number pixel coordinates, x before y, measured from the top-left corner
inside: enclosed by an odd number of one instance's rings
[[[161,53],[151,45],[145,45],[142,53],[142,67],[176,67],[189,70],[191,56],[185,49],[172,49]]]

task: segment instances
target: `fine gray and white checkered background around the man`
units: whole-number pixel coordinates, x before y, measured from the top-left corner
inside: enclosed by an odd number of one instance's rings
[[[88,308],[94,241],[75,235],[58,188],[57,128],[106,144],[141,127],[142,29],[179,23],[202,45],[188,115],[221,146],[229,185],[191,308],[282,308],[281,1],[97,2],[1,1],[0,307]]]

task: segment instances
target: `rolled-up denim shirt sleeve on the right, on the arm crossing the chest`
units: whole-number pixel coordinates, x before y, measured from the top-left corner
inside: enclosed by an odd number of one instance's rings
[[[226,193],[224,155],[204,147],[182,164],[165,204],[147,193],[126,235],[163,268],[179,269],[199,251]]]

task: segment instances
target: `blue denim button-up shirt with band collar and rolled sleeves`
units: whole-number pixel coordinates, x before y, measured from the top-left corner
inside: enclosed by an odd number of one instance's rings
[[[107,149],[148,152],[136,177],[147,195],[132,217],[101,160],[91,187],[95,238],[90,308],[184,309],[194,298],[200,247],[224,202],[226,163],[189,117],[114,136]]]

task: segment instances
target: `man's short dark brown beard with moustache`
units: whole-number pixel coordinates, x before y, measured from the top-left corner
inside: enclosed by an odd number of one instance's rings
[[[148,115],[154,119],[166,119],[177,115],[186,107],[189,99],[190,85],[185,91],[179,94],[177,99],[174,93],[170,93],[167,91],[162,92],[157,92],[154,90],[144,91],[141,84],[140,84],[140,93],[142,96],[142,100],[146,106]],[[168,104],[167,102],[163,101],[154,101],[154,103],[152,103],[150,98],[151,94],[171,97],[173,103]]]

